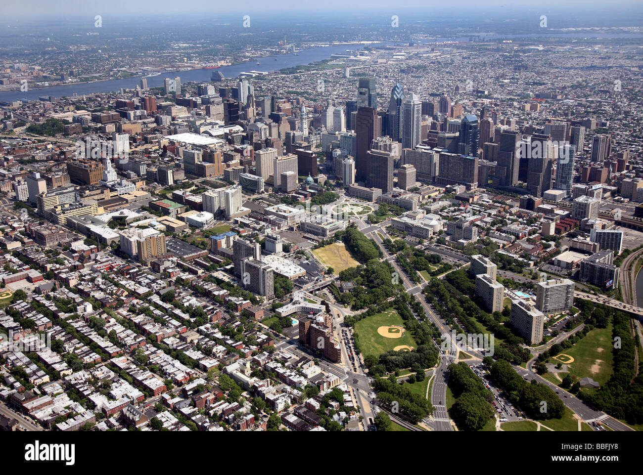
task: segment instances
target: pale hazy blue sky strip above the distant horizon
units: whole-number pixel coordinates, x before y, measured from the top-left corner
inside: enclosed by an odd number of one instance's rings
[[[565,9],[565,8],[606,8],[628,9],[640,12],[640,0],[456,0],[452,3],[444,0],[246,0],[246,1],[217,1],[197,0],[181,2],[177,0],[3,0],[0,7],[6,15],[115,15],[121,13],[249,13],[252,11],[289,10],[291,12],[305,10],[453,10],[454,12],[467,8],[469,10],[489,8],[505,8],[511,10],[536,9]]]

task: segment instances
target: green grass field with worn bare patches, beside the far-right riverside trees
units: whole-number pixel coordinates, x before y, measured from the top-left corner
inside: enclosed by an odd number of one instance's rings
[[[565,355],[574,358],[574,363],[567,365],[572,379],[578,381],[590,377],[601,385],[605,384],[613,372],[612,345],[610,323],[607,328],[594,328],[572,348],[564,350]],[[550,358],[549,362],[560,363],[553,358]]]

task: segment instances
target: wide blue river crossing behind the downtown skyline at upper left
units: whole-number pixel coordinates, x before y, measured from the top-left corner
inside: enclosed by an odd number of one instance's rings
[[[179,76],[181,83],[190,81],[207,82],[210,81],[213,71],[221,71],[226,79],[236,78],[240,73],[249,73],[250,71],[272,72],[278,71],[283,67],[300,66],[310,64],[315,61],[328,59],[336,53],[346,53],[347,49],[356,49],[357,45],[343,44],[341,46],[320,46],[317,48],[303,49],[296,54],[268,56],[257,58],[252,61],[246,61],[234,66],[222,66],[217,69],[191,69],[190,71],[171,71],[161,73],[158,76],[147,78],[148,87],[163,86],[165,78],[175,78]],[[260,64],[256,64],[259,62]],[[131,78],[109,79],[95,82],[76,82],[73,84],[53,85],[50,87],[41,87],[31,89],[30,91],[3,91],[0,92],[0,102],[12,102],[15,100],[37,100],[39,97],[69,97],[77,94],[109,93],[119,89],[134,89],[137,84],[141,83],[142,76],[133,76]]]

